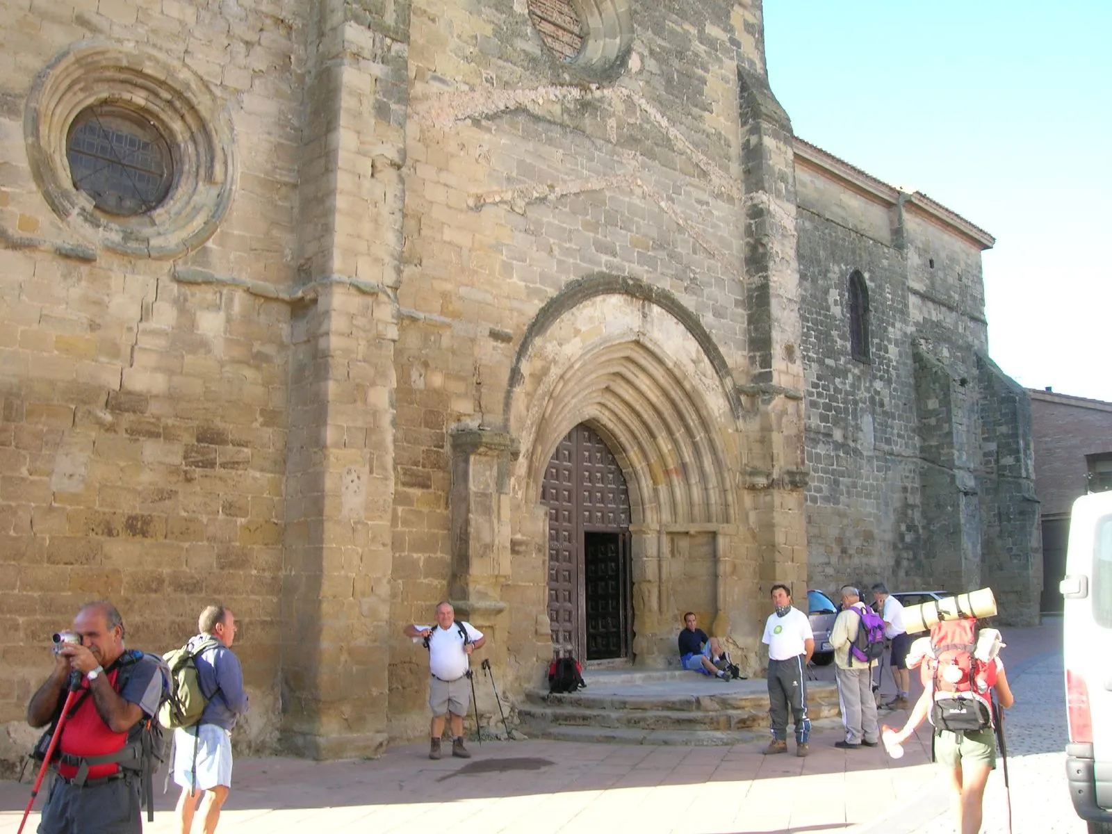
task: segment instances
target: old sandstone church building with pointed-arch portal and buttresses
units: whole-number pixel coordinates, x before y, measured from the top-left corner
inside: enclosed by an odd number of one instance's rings
[[[424,732],[444,598],[510,699],[687,609],[758,669],[775,582],[1036,612],[992,238],[794,137],[757,0],[0,10],[3,757],[97,597],[229,605],[318,757]]]

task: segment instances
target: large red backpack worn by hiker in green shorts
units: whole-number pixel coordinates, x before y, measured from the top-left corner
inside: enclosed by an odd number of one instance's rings
[[[933,683],[931,723],[936,729],[974,733],[993,726],[996,662],[979,661],[976,620],[944,619],[931,627],[932,655],[923,661],[923,685]]]

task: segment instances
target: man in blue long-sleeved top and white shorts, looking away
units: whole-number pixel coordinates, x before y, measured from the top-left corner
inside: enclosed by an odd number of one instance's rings
[[[201,830],[212,834],[231,790],[231,731],[247,714],[244,671],[231,651],[236,616],[222,605],[210,605],[197,619],[200,632],[190,638],[197,652],[197,683],[208,698],[201,719],[173,731],[173,781],[181,786],[177,814],[181,834],[189,834],[200,801]]]

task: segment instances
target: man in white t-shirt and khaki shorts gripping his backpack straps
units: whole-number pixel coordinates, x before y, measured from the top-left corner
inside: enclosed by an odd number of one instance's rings
[[[471,754],[464,747],[464,716],[470,703],[468,658],[476,648],[483,648],[486,637],[470,623],[457,623],[450,603],[436,606],[435,626],[407,625],[405,635],[414,643],[424,642],[428,649],[428,666],[433,673],[428,686],[428,705],[433,709],[428,757],[440,757],[440,736],[447,714],[451,725],[451,755],[470,758]]]

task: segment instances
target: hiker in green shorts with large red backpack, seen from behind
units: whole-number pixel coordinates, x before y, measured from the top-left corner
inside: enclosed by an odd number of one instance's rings
[[[996,767],[993,702],[1005,709],[1015,703],[996,654],[1002,645],[999,632],[979,633],[972,617],[935,624],[931,637],[915,641],[907,657],[909,668],[922,669],[923,694],[903,729],[883,728],[884,745],[891,752],[925,718],[931,719],[934,761],[950,774],[960,834],[981,831],[984,788]]]

